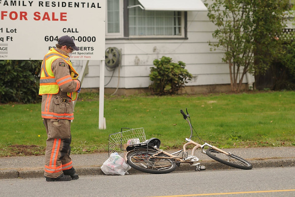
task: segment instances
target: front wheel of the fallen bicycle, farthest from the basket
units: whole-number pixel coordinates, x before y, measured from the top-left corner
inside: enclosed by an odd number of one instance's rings
[[[231,167],[235,167],[235,168],[239,168],[243,170],[252,169],[252,164],[250,162],[236,155],[226,155],[214,149],[207,149],[206,155],[208,155],[209,157],[211,157],[212,159],[220,163],[223,163]]]

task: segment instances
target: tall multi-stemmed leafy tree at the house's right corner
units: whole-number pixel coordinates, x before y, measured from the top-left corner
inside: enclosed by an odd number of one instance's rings
[[[225,51],[232,91],[239,92],[247,72],[265,72],[268,58],[278,48],[277,36],[284,28],[283,11],[288,0],[216,0],[208,8],[209,19],[217,26],[209,42],[211,49]]]

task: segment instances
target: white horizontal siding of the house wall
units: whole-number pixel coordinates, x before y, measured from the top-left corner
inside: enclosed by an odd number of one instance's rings
[[[106,39],[105,48],[121,50],[121,65],[120,75],[117,67],[110,82],[112,71],[105,70],[105,84],[109,82],[105,87],[148,87],[151,84],[149,74],[153,60],[162,56],[171,57],[174,62],[186,63],[187,70],[193,75],[187,86],[230,84],[229,66],[222,62],[223,51],[210,51],[208,45],[209,40],[214,41],[212,33],[215,26],[209,21],[207,12],[188,11],[187,27],[188,39]],[[73,61],[78,71],[83,64],[86,61]],[[99,64],[100,61],[89,61],[89,72],[82,88],[99,87]],[[252,84],[254,77],[247,75],[243,82]]]

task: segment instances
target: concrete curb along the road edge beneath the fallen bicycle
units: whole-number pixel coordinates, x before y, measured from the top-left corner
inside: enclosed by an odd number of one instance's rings
[[[285,159],[262,159],[262,160],[249,160],[253,168],[269,168],[269,167],[293,167],[295,166],[295,159],[285,158]],[[201,165],[206,166],[206,170],[224,170],[224,169],[235,169],[219,163],[217,161],[202,162]],[[100,170],[99,166],[91,167],[75,167],[76,172],[80,176],[89,176],[89,175],[104,175]],[[195,167],[189,164],[181,164],[176,168],[174,172],[184,172],[184,171],[195,171]],[[134,174],[146,174],[141,171],[137,171],[131,168],[129,175]],[[0,170],[0,179],[14,179],[14,178],[42,178],[44,175],[44,169],[9,169],[9,170]]]

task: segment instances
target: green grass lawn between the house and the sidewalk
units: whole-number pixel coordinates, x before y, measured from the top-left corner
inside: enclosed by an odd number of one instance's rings
[[[180,109],[187,107],[203,140],[218,147],[295,146],[295,92],[181,96],[106,96],[106,129],[98,128],[98,94],[80,94],[71,124],[72,153],[108,151],[108,135],[144,127],[161,148],[180,148],[189,137]],[[0,105],[0,156],[44,154],[47,138],[41,104]],[[194,138],[198,141],[197,138]],[[200,141],[198,141],[200,142]],[[33,146],[32,146],[33,145]],[[31,147],[29,147],[31,146]]]

